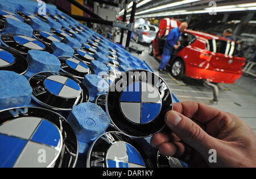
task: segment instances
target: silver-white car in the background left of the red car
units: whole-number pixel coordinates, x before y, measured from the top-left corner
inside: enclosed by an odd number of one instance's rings
[[[136,32],[133,35],[133,39],[136,43],[151,43],[152,40],[155,39],[155,35],[158,32],[158,27],[147,25],[147,24],[139,24],[136,28]]]

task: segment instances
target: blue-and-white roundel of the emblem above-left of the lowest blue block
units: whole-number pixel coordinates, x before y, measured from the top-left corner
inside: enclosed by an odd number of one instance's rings
[[[59,75],[47,77],[44,80],[44,86],[50,93],[63,98],[75,98],[81,93],[81,88],[77,82]]]

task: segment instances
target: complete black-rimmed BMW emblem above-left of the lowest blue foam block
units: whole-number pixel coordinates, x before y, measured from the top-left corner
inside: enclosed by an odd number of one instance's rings
[[[69,111],[89,101],[89,91],[76,78],[61,72],[40,72],[29,80],[32,99],[53,110]]]

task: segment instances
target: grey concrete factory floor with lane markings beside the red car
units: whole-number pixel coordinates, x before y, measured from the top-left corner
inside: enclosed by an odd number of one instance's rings
[[[131,44],[133,43],[135,42],[131,41]],[[144,51],[141,55],[132,54],[146,61],[155,72],[158,72],[159,61],[148,55],[146,44],[142,45]],[[210,105],[210,100],[213,99],[212,89],[203,86],[199,81],[191,78],[184,78],[183,81],[178,81],[167,72],[164,74],[159,73],[159,75],[167,82],[171,91],[180,101],[197,101]],[[219,84],[220,101],[217,105],[212,106],[239,116],[256,134],[256,94],[252,92],[255,91],[256,81],[254,78],[249,78],[242,76],[236,84]]]

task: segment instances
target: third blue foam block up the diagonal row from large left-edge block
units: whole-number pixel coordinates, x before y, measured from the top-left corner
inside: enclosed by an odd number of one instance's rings
[[[56,57],[72,57],[75,52],[69,45],[57,41],[52,42],[51,48],[53,50],[53,55],[55,55]]]

